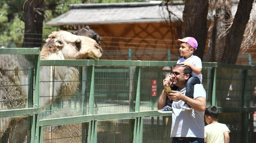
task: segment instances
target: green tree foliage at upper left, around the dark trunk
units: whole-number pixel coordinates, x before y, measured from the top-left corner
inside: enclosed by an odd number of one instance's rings
[[[0,1],[0,46],[22,47],[25,30],[24,6],[25,0]],[[143,2],[146,0],[44,0],[45,16],[42,39],[48,38],[58,26],[45,26],[45,23],[68,11],[70,4],[114,3],[114,2]],[[42,43],[43,45],[44,43]]]

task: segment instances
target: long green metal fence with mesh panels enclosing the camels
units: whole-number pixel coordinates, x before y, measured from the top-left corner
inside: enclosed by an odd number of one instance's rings
[[[0,48],[0,142],[171,142],[171,114],[157,113],[157,100],[176,62],[39,57]],[[202,74],[230,142],[255,142],[256,67],[203,63]]]

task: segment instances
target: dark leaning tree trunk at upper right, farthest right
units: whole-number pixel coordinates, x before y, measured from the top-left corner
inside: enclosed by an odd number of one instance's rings
[[[252,4],[254,0],[240,0],[233,24],[227,34],[226,47],[222,63],[235,64],[239,49],[243,40],[246,24],[250,18]]]

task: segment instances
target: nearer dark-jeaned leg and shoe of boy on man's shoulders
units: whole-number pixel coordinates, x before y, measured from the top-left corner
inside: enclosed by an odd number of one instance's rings
[[[188,82],[186,84],[186,93],[185,95],[190,97],[190,98],[194,98],[194,86],[195,84],[200,84],[200,80],[198,77],[190,77],[188,79]],[[182,109],[185,110],[191,110],[192,108],[190,108],[190,106],[187,103],[184,103]]]

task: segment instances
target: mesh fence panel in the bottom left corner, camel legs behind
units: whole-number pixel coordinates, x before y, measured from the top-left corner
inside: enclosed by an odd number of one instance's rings
[[[31,120],[28,116],[1,118],[0,121],[1,143],[29,143]]]

